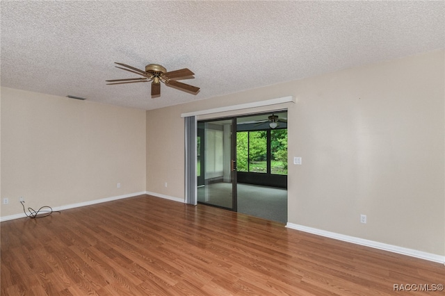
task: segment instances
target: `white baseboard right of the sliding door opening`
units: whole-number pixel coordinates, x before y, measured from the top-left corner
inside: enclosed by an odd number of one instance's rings
[[[422,252],[422,251],[417,251],[416,249],[408,249],[405,247],[388,245],[388,244],[385,244],[382,242],[375,242],[373,240],[365,240],[363,238],[355,238],[354,236],[345,236],[343,234],[334,233],[334,232],[330,232],[330,231],[324,231],[324,230],[316,229],[316,228],[312,228],[312,227],[305,227],[302,225],[293,224],[293,223],[289,223],[289,222],[286,224],[286,227],[291,228],[291,229],[300,230],[300,231],[305,231],[307,233],[316,234],[318,236],[325,236],[327,238],[334,238],[336,240],[352,242],[357,245],[373,247],[375,249],[382,249],[382,250],[393,252],[393,253],[403,254],[403,255],[407,255],[407,256],[425,259],[428,261],[434,261],[434,262],[445,264],[445,256],[431,254],[431,253]]]

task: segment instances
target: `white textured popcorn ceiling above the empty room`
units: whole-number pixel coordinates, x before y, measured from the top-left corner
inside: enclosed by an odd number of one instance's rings
[[[445,47],[445,1],[1,1],[1,85],[154,109]],[[188,67],[195,96],[114,62]]]

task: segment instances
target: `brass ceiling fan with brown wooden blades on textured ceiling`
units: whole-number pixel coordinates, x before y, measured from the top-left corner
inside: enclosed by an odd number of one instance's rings
[[[167,69],[162,67],[161,65],[149,64],[145,66],[145,71],[131,67],[129,65],[125,65],[122,63],[115,63],[122,67],[115,66],[119,69],[123,69],[125,71],[138,74],[143,77],[139,78],[129,78],[129,79],[112,79],[107,80],[106,84],[122,84],[122,83],[136,83],[136,82],[149,82],[152,81],[152,97],[159,97],[161,95],[161,82],[165,83],[173,88],[177,88],[178,90],[183,90],[185,92],[189,92],[191,94],[197,94],[200,88],[197,88],[193,85],[188,85],[186,83],[179,82],[177,80],[182,79],[191,79],[194,73],[191,70],[184,68],[175,71],[167,72]]]

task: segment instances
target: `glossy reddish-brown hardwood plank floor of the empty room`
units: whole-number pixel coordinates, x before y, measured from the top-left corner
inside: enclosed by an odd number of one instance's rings
[[[395,284],[433,290],[445,266],[148,195],[1,222],[1,295],[403,295]]]

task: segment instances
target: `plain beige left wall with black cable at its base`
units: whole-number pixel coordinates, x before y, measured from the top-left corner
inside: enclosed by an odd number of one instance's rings
[[[1,88],[1,217],[145,192],[145,110]],[[117,183],[121,188],[117,188]]]

